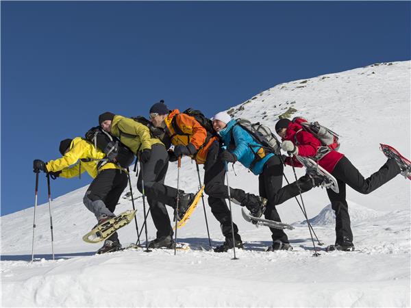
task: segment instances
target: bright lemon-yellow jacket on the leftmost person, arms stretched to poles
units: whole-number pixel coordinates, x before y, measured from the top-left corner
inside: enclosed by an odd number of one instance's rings
[[[80,137],[73,139],[69,149],[70,151],[66,152],[63,157],[47,162],[47,171],[56,172],[61,170],[62,173],[60,173],[60,177],[65,178],[77,177],[82,172],[87,171],[90,177],[94,179],[101,170],[120,169],[120,167],[115,164],[107,163],[103,164],[103,166],[97,170],[99,159],[103,159],[105,157],[105,153],[99,149],[96,149],[91,142],[88,142]],[[82,162],[80,159],[96,160]]]

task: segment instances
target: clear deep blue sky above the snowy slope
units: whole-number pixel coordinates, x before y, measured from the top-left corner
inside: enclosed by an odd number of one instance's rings
[[[1,1],[1,215],[34,205],[33,159],[58,158],[102,112],[147,116],[164,99],[212,116],[282,82],[410,60],[410,13],[393,1]],[[52,196],[90,181],[57,179]]]

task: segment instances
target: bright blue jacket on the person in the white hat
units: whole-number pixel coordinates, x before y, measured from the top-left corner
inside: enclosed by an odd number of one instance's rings
[[[246,168],[250,168],[251,163],[256,159],[257,151],[261,148],[261,144],[256,142],[254,138],[240,125],[236,125],[236,120],[230,120],[224,129],[219,132],[221,138],[223,139],[223,144],[227,146],[230,153],[236,155],[238,162],[243,164]],[[230,142],[234,138],[235,149],[230,149]],[[253,168],[250,168],[254,175],[260,175],[262,173],[262,168],[264,164],[273,153],[267,154],[263,159],[254,164]]]

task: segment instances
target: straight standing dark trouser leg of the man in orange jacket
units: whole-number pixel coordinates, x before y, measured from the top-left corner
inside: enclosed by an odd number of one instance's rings
[[[204,164],[204,192],[208,194],[208,205],[214,217],[219,220],[221,231],[227,238],[232,236],[231,216],[225,199],[228,198],[225,180],[225,163],[219,157],[220,145],[215,141],[208,149],[206,164]],[[233,223],[234,234],[238,227]]]

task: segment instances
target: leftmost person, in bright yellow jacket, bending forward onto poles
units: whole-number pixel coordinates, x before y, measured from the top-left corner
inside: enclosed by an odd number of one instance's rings
[[[99,224],[114,217],[116,204],[127,186],[127,172],[116,164],[106,162],[105,153],[80,137],[62,140],[59,150],[62,154],[59,159],[47,163],[35,159],[34,170],[66,179],[77,177],[86,171],[93,181],[84,195],[84,205],[95,214]],[[115,232],[104,241],[97,253],[117,251],[120,248],[119,236]]]

